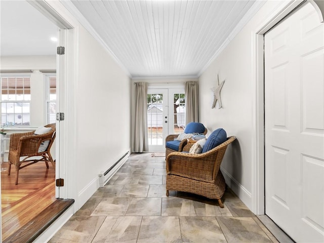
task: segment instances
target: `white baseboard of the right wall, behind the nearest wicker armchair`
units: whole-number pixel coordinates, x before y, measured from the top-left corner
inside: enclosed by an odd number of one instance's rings
[[[221,168],[226,184],[238,196],[239,199],[252,211],[252,194],[244,186],[238,183],[226,170]]]

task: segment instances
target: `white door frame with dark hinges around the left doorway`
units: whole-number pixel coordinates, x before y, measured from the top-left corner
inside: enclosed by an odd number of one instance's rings
[[[59,102],[57,112],[65,113],[64,121],[59,121],[57,127],[56,141],[58,142],[59,166],[56,168],[56,175],[64,179],[64,186],[60,187],[60,198],[77,199],[77,185],[73,168],[75,168],[75,154],[73,144],[75,144],[75,114],[73,87],[75,85],[75,59],[76,59],[76,38],[78,22],[70,17],[68,10],[59,1],[31,1],[27,0],[33,7],[39,10],[44,16],[55,23],[61,32],[64,32],[65,54],[60,57],[61,62],[57,62],[57,74],[59,74]],[[58,14],[58,12],[60,14]],[[69,129],[73,128],[73,129]],[[59,149],[59,150],[58,150]],[[67,161],[69,161],[67,163]],[[58,195],[58,190],[56,190]],[[75,202],[76,203],[76,202]],[[77,209],[77,207],[75,207]]]

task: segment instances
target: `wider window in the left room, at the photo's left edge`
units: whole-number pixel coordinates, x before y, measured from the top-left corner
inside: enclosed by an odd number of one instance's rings
[[[7,126],[29,126],[29,76],[1,77],[1,122]]]

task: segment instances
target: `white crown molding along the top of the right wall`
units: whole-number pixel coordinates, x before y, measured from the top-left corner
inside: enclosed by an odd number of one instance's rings
[[[227,47],[227,45],[232,41],[232,39],[239,33],[239,31],[244,28],[244,26],[252,19],[252,17],[259,11],[259,9],[266,3],[263,0],[257,0],[249,9],[249,11],[243,16],[243,18],[239,21],[239,23],[234,27],[233,31],[229,34],[226,41],[220,46],[220,48],[216,51],[214,56],[206,63],[203,69],[198,73],[198,77],[203,74],[206,69],[211,65],[211,63],[222,53],[222,51]]]

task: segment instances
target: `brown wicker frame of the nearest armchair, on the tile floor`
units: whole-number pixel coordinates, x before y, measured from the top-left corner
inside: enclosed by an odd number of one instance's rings
[[[225,192],[225,179],[220,165],[228,144],[235,136],[228,137],[217,147],[200,154],[172,152],[167,157],[167,196],[169,190],[191,192],[218,199],[224,208],[221,197]],[[189,149],[190,145],[186,146]]]

